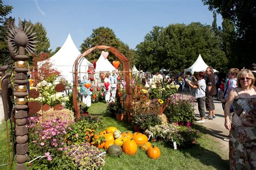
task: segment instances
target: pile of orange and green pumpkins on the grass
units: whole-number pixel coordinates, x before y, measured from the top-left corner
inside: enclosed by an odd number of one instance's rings
[[[105,137],[105,142],[98,145],[99,148],[105,148],[110,155],[119,155],[122,152],[128,155],[134,155],[137,152],[138,146],[146,151],[151,159],[160,157],[160,150],[157,146],[151,146],[147,140],[147,136],[140,132],[121,132],[116,127],[109,127],[106,131],[100,132],[101,136]]]

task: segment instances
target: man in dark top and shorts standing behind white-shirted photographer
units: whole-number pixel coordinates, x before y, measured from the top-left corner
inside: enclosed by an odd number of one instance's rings
[[[206,79],[206,99],[205,99],[205,106],[206,110],[209,112],[208,119],[212,120],[215,118],[214,115],[214,103],[213,103],[213,96],[217,94],[217,89],[215,86],[215,80],[213,75],[213,68],[207,67],[205,70],[206,74],[208,75]]]

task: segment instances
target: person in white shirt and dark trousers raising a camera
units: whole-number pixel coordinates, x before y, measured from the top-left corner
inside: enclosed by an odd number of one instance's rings
[[[196,90],[196,98],[198,103],[198,110],[200,114],[200,120],[197,123],[205,123],[205,89],[206,83],[204,80],[205,74],[204,72],[199,72],[197,74],[197,84],[192,84],[190,80],[186,79],[188,86],[197,89]]]

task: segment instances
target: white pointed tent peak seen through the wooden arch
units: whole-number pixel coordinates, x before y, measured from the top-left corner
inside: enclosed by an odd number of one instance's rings
[[[114,66],[109,62],[109,60],[105,59],[102,54],[100,54],[98,61],[96,62],[95,72],[112,72],[116,70]]]

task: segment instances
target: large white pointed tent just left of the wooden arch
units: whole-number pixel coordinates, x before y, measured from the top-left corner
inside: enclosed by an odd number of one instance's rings
[[[70,72],[72,72],[73,63],[80,54],[81,53],[78,51],[76,45],[74,44],[69,34],[68,38],[66,38],[66,41],[59,49],[59,51],[53,56],[51,56],[50,61],[53,64],[53,68],[59,70],[60,74],[63,77],[65,77],[66,80],[71,82],[73,81],[73,75]],[[90,62],[84,59],[83,63],[84,64],[82,65],[85,65],[85,70],[87,70],[87,67],[90,64]],[[82,65],[81,67],[83,67]]]

